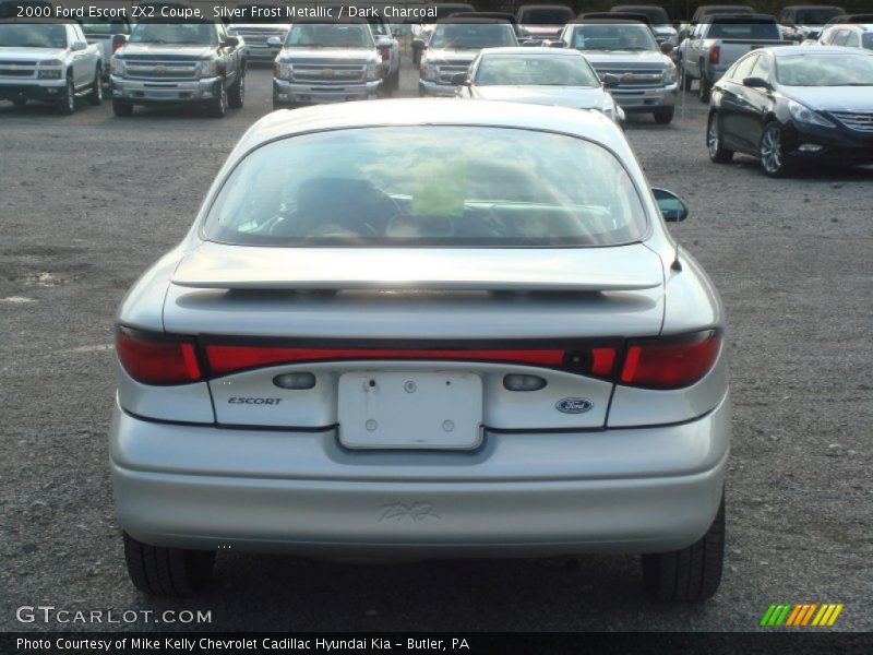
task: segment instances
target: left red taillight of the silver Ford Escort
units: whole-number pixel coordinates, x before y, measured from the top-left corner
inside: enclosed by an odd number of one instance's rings
[[[144,384],[187,384],[202,377],[190,337],[119,327],[116,353],[128,374]]]

